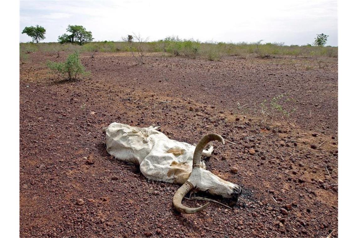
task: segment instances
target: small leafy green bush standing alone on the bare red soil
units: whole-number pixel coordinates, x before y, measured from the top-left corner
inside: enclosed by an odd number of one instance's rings
[[[78,75],[88,76],[91,74],[89,71],[86,71],[81,64],[77,51],[73,54],[69,54],[65,62],[47,61],[47,67],[68,81],[76,80]]]

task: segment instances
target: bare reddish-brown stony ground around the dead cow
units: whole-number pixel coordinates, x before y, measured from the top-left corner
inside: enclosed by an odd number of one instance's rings
[[[20,65],[21,237],[338,236],[337,59],[82,54],[92,76],[76,82],[44,64],[64,59]],[[235,145],[214,143],[207,169],[242,187],[238,202],[176,212],[178,185],[106,153],[112,122],[191,144],[223,135]]]

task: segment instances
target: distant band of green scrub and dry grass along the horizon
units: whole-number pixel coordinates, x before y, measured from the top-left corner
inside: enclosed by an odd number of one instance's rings
[[[338,47],[311,46],[311,45],[284,45],[283,43],[266,43],[261,41],[247,43],[200,42],[195,40],[182,40],[178,37],[167,37],[159,41],[140,42],[114,42],[98,41],[87,42],[83,45],[60,43],[20,43],[20,54],[29,52],[57,53],[59,51],[79,52],[125,52],[136,51],[163,52],[166,55],[185,56],[191,59],[204,57],[208,60],[220,60],[223,56],[239,56],[246,58],[249,55],[265,58],[275,55],[293,56],[326,56],[338,57]]]

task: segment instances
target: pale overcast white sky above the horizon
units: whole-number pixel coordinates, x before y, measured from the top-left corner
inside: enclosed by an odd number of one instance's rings
[[[182,39],[223,42],[312,43],[317,34],[338,45],[336,0],[248,1],[20,1],[20,42],[25,26],[46,29],[44,42],[57,42],[68,25],[82,25],[95,41],[140,33],[150,41]]]

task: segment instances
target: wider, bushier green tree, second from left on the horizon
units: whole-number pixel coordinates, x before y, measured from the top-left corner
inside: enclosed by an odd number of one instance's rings
[[[58,37],[58,42],[63,43],[76,43],[83,45],[86,42],[92,41],[92,32],[86,31],[86,28],[78,25],[68,25],[67,29],[71,34],[63,34]]]

